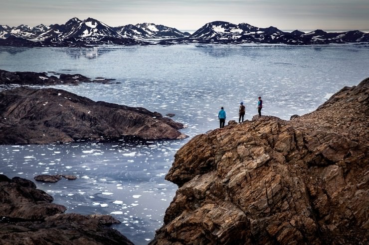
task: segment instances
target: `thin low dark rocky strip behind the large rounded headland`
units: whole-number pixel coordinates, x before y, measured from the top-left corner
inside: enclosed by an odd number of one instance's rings
[[[55,74],[57,75],[57,74]],[[20,85],[53,85],[53,84],[78,84],[81,82],[100,82],[108,83],[113,80],[99,78],[91,80],[80,74],[58,74],[48,76],[47,73],[35,72],[8,72],[0,70],[0,85],[20,84]]]

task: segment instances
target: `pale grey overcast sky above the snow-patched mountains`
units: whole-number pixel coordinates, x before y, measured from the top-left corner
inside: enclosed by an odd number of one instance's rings
[[[222,20],[282,30],[368,30],[369,0],[1,0],[0,25],[64,24],[77,17],[109,26],[150,22],[196,30]]]

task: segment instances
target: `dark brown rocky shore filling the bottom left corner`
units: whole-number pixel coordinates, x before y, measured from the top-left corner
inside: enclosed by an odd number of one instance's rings
[[[0,244],[132,245],[110,215],[62,214],[66,208],[29,180],[0,174]]]

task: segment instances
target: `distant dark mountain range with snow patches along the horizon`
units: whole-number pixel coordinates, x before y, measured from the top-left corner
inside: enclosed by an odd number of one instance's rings
[[[269,44],[330,44],[369,43],[369,33],[362,31],[309,33],[295,30],[284,32],[273,26],[259,28],[247,23],[232,24],[213,21],[193,34],[176,28],[142,23],[111,27],[93,18],[72,18],[65,24],[0,25],[0,46],[26,47],[88,47],[92,45],[149,45],[177,43],[269,43]]]

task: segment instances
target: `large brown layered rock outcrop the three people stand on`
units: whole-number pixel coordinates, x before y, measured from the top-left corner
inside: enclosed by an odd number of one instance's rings
[[[369,79],[290,121],[254,117],[198,135],[152,245],[368,244]]]

